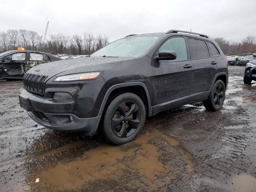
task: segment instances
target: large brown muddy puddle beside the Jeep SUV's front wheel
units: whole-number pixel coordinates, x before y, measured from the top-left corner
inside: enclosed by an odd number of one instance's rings
[[[74,190],[93,181],[115,180],[118,182],[126,172],[138,172],[140,177],[146,178],[149,185],[160,175],[172,174],[172,172],[177,171],[177,168],[164,165],[159,160],[160,148],[148,142],[152,137],[161,138],[178,150],[182,161],[186,163],[186,171],[188,173],[194,172],[195,163],[192,154],[184,150],[176,138],[168,137],[155,128],[148,130],[150,133],[140,134],[133,143],[124,146],[102,143],[68,163],[59,162],[54,167],[43,169],[38,174],[28,178],[28,184],[32,189]],[[77,144],[72,145],[76,146]],[[79,144],[81,143],[79,142]],[[52,152],[70,147],[72,146],[64,146],[62,149],[56,149]],[[35,158],[42,158],[45,155],[50,154],[47,152]],[[36,178],[40,179],[37,183],[35,182]],[[170,183],[171,180],[168,180],[165,184]]]

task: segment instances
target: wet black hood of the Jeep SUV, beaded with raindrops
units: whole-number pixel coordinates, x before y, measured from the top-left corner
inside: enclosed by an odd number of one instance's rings
[[[106,69],[110,69],[110,65],[112,63],[132,59],[136,58],[83,57],[78,59],[67,59],[34,66],[28,70],[28,73],[47,75],[51,78],[57,74],[66,75],[82,72],[104,71]]]

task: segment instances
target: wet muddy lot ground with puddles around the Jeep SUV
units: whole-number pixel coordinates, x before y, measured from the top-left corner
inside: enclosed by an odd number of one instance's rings
[[[256,84],[229,72],[220,111],[161,112],[122,146],[40,126],[19,106],[22,82],[0,81],[0,191],[256,191]]]

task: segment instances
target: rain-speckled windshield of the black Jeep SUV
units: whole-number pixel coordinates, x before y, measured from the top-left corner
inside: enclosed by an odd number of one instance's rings
[[[90,56],[138,57],[145,54],[159,39],[155,36],[134,36],[116,40]]]

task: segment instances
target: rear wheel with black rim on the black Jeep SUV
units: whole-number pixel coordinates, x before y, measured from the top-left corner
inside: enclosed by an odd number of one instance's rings
[[[225,84],[222,80],[217,80],[210,92],[207,100],[203,101],[204,107],[209,111],[218,111],[225,100]]]

